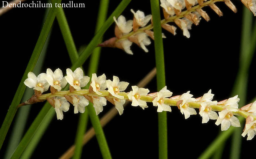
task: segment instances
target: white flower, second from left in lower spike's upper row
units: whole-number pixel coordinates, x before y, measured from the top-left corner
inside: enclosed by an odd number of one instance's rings
[[[50,86],[54,87],[58,91],[64,88],[67,84],[66,78],[63,77],[62,70],[59,68],[54,72],[51,69],[47,69],[45,79]]]

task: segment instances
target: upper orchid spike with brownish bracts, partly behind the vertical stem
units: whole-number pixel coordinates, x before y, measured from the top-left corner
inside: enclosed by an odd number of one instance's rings
[[[215,13],[222,16],[223,13],[214,4],[215,2],[224,2],[233,12],[237,12],[236,7],[230,0],[160,0],[161,7],[164,14],[164,20],[161,21],[161,27],[172,33],[176,34],[176,27],[167,24],[168,22],[174,22],[181,30],[183,35],[187,38],[190,37],[189,29],[192,24],[198,25],[201,16],[209,21],[210,17],[202,10],[203,7],[209,6]],[[241,2],[253,12],[256,16],[256,0],[241,0]],[[198,5],[197,5],[198,4]],[[186,8],[186,9],[185,9]],[[124,50],[128,54],[133,54],[130,46],[135,43],[141,47],[145,52],[148,52],[146,46],[150,45],[151,41],[148,36],[154,40],[153,21],[152,16],[145,16],[144,12],[137,10],[136,12],[131,9],[134,15],[133,20],[126,21],[123,15],[120,15],[117,19],[114,17],[116,23],[115,37],[104,41],[98,46],[101,47],[116,47]],[[146,26],[151,20],[151,24]],[[141,28],[140,28],[141,27]],[[162,34],[163,38],[166,38]]]

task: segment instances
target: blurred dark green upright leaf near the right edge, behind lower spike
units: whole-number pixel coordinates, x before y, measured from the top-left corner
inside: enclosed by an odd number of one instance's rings
[[[251,48],[251,30],[253,15],[246,8],[243,7],[243,17],[242,17],[242,32],[241,32],[241,50],[240,50],[240,66],[236,82],[233,88],[233,95],[238,94],[240,98],[240,106],[246,104],[246,94],[247,94],[247,83],[248,83],[248,71],[250,66],[250,60],[253,57],[254,52],[250,52]],[[244,125],[244,122],[241,124]],[[230,158],[239,159],[241,144],[242,144],[242,134],[243,127],[239,127],[234,131],[232,141],[231,141],[231,150]]]

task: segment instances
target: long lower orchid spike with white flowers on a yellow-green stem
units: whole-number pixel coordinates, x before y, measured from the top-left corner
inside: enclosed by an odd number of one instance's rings
[[[167,89],[167,86],[159,92],[150,94],[148,94],[148,89],[137,86],[132,86],[130,92],[124,92],[129,85],[128,82],[120,82],[117,76],[113,76],[113,81],[107,80],[105,74],[97,76],[95,73],[92,74],[89,89],[81,89],[89,83],[90,77],[83,76],[81,68],[77,68],[74,72],[67,69],[66,72],[67,76],[64,77],[60,69],[56,69],[54,72],[47,69],[46,73],[41,73],[38,76],[29,72],[24,84],[33,88],[35,95],[18,107],[47,100],[55,108],[57,119],[62,120],[63,112],[69,110],[69,103],[74,106],[74,113],[84,113],[85,107],[91,102],[98,115],[103,111],[103,106],[106,106],[107,101],[109,101],[115,105],[121,115],[126,101],[131,101],[132,106],[140,106],[142,109],[148,107],[147,102],[152,102],[153,106],[157,107],[157,112],[171,112],[170,106],[178,107],[181,113],[184,114],[185,119],[189,118],[190,115],[197,114],[195,108],[199,108],[202,123],[207,123],[209,119],[217,119],[215,124],[221,124],[222,131],[227,130],[230,125],[240,127],[238,118],[234,116],[239,115],[246,118],[242,136],[247,134],[247,140],[251,140],[256,134],[256,101],[239,109],[238,102],[240,99],[238,95],[217,102],[212,101],[214,95],[211,89],[198,98],[193,98],[190,91],[182,95],[172,96],[173,93]],[[67,83],[69,83],[69,90],[61,91]],[[42,94],[49,87],[51,93]],[[216,112],[219,112],[219,116]]]

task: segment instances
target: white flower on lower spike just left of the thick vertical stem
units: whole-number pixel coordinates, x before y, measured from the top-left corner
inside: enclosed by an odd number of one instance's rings
[[[142,109],[147,108],[147,102],[142,101],[141,95],[148,95],[149,90],[145,88],[139,88],[138,86],[132,86],[132,91],[128,93],[129,100],[132,101],[132,106],[140,106]]]

